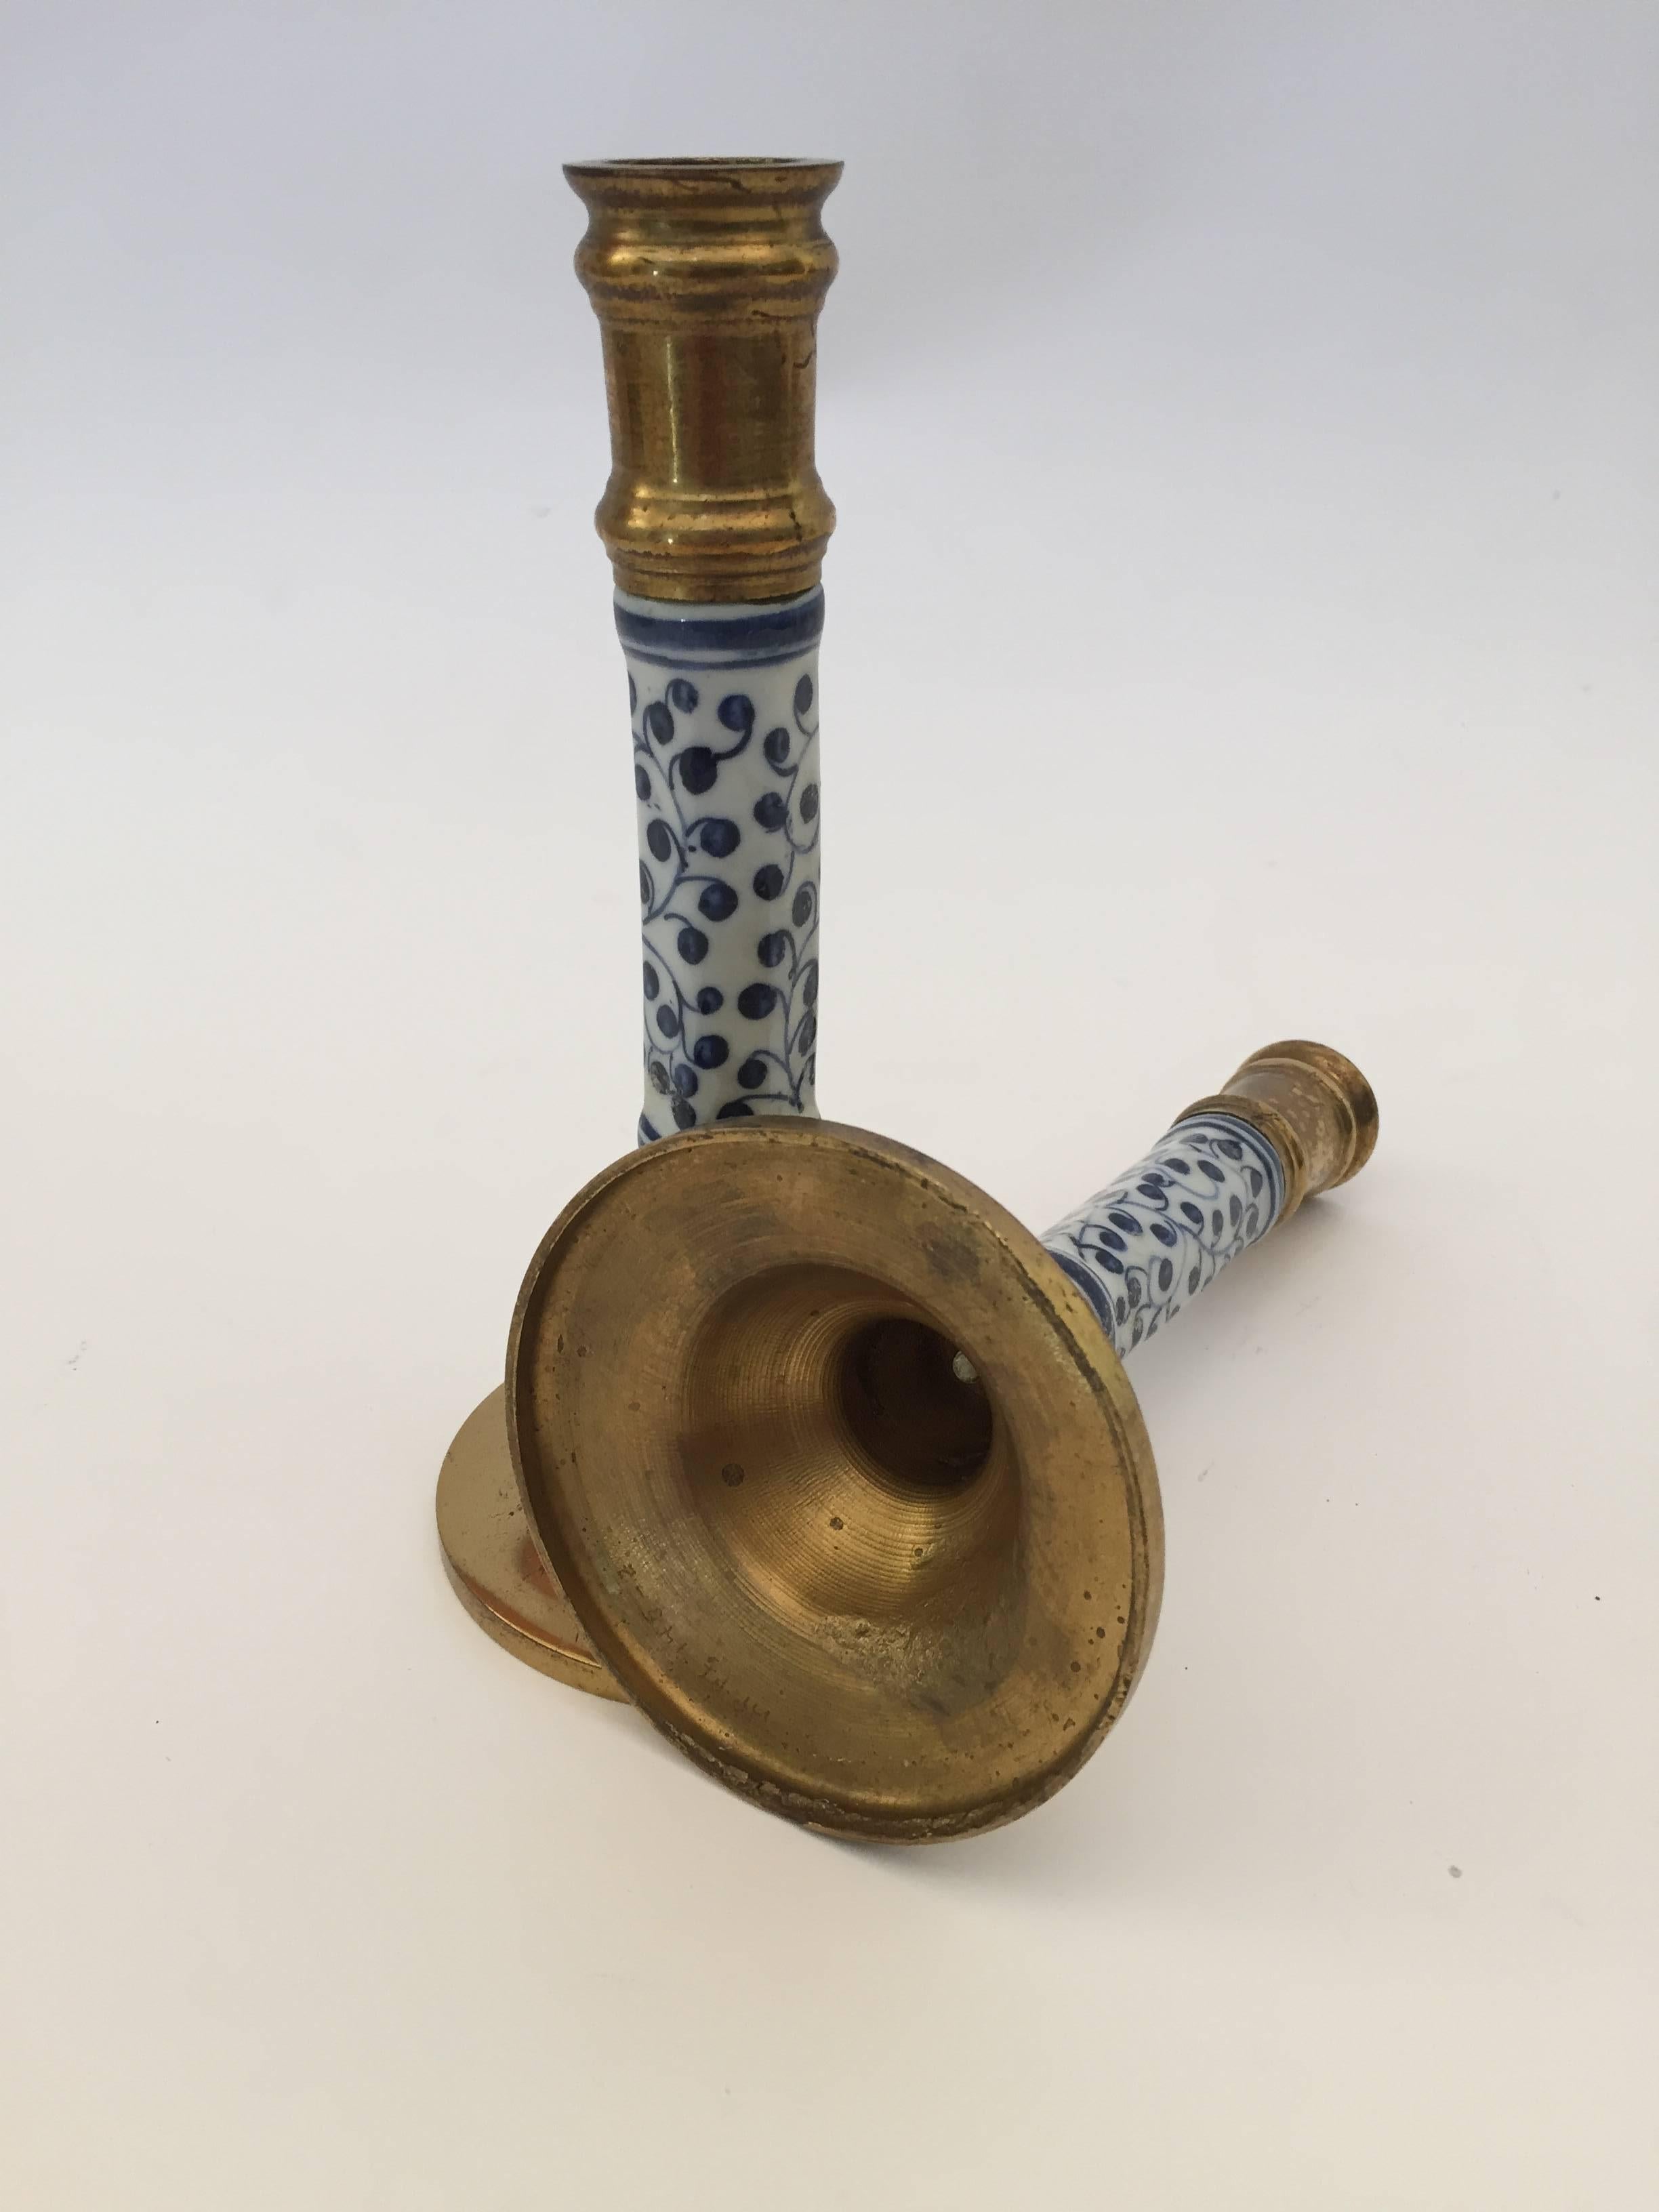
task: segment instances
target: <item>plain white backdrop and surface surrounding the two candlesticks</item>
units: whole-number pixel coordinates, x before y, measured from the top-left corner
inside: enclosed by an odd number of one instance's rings
[[[1659,15],[7,0],[0,2192],[1652,2203]],[[821,1097],[1042,1225],[1367,1175],[1133,1374],[1031,1820],[770,1823],[449,1595],[633,1130],[557,164],[827,153]]]

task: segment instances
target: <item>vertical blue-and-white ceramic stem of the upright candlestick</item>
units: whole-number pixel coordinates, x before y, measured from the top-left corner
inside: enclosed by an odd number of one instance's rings
[[[823,588],[759,606],[617,593],[639,801],[639,1141],[816,1115]]]

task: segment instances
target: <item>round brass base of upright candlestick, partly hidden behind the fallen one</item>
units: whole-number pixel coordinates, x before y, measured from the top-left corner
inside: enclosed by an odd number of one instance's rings
[[[500,1387],[473,1407],[445,1453],[438,1542],[456,1597],[502,1650],[575,1690],[626,1703],[564,1590],[542,1566],[518,1498]]]

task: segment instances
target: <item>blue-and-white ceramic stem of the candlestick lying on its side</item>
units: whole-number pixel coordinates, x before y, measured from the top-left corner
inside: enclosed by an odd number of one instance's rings
[[[1225,1113],[1199,1113],[1042,1239],[1121,1356],[1214,1283],[1285,1208],[1272,1144]]]

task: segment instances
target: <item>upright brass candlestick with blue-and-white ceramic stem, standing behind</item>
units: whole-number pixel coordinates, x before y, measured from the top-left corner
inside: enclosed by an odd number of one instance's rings
[[[604,336],[639,803],[639,1137],[814,1115],[818,571],[812,451],[838,161],[577,161],[575,268]],[[498,1644],[619,1697],[535,1551],[502,1391],[438,1475],[449,1579]]]

